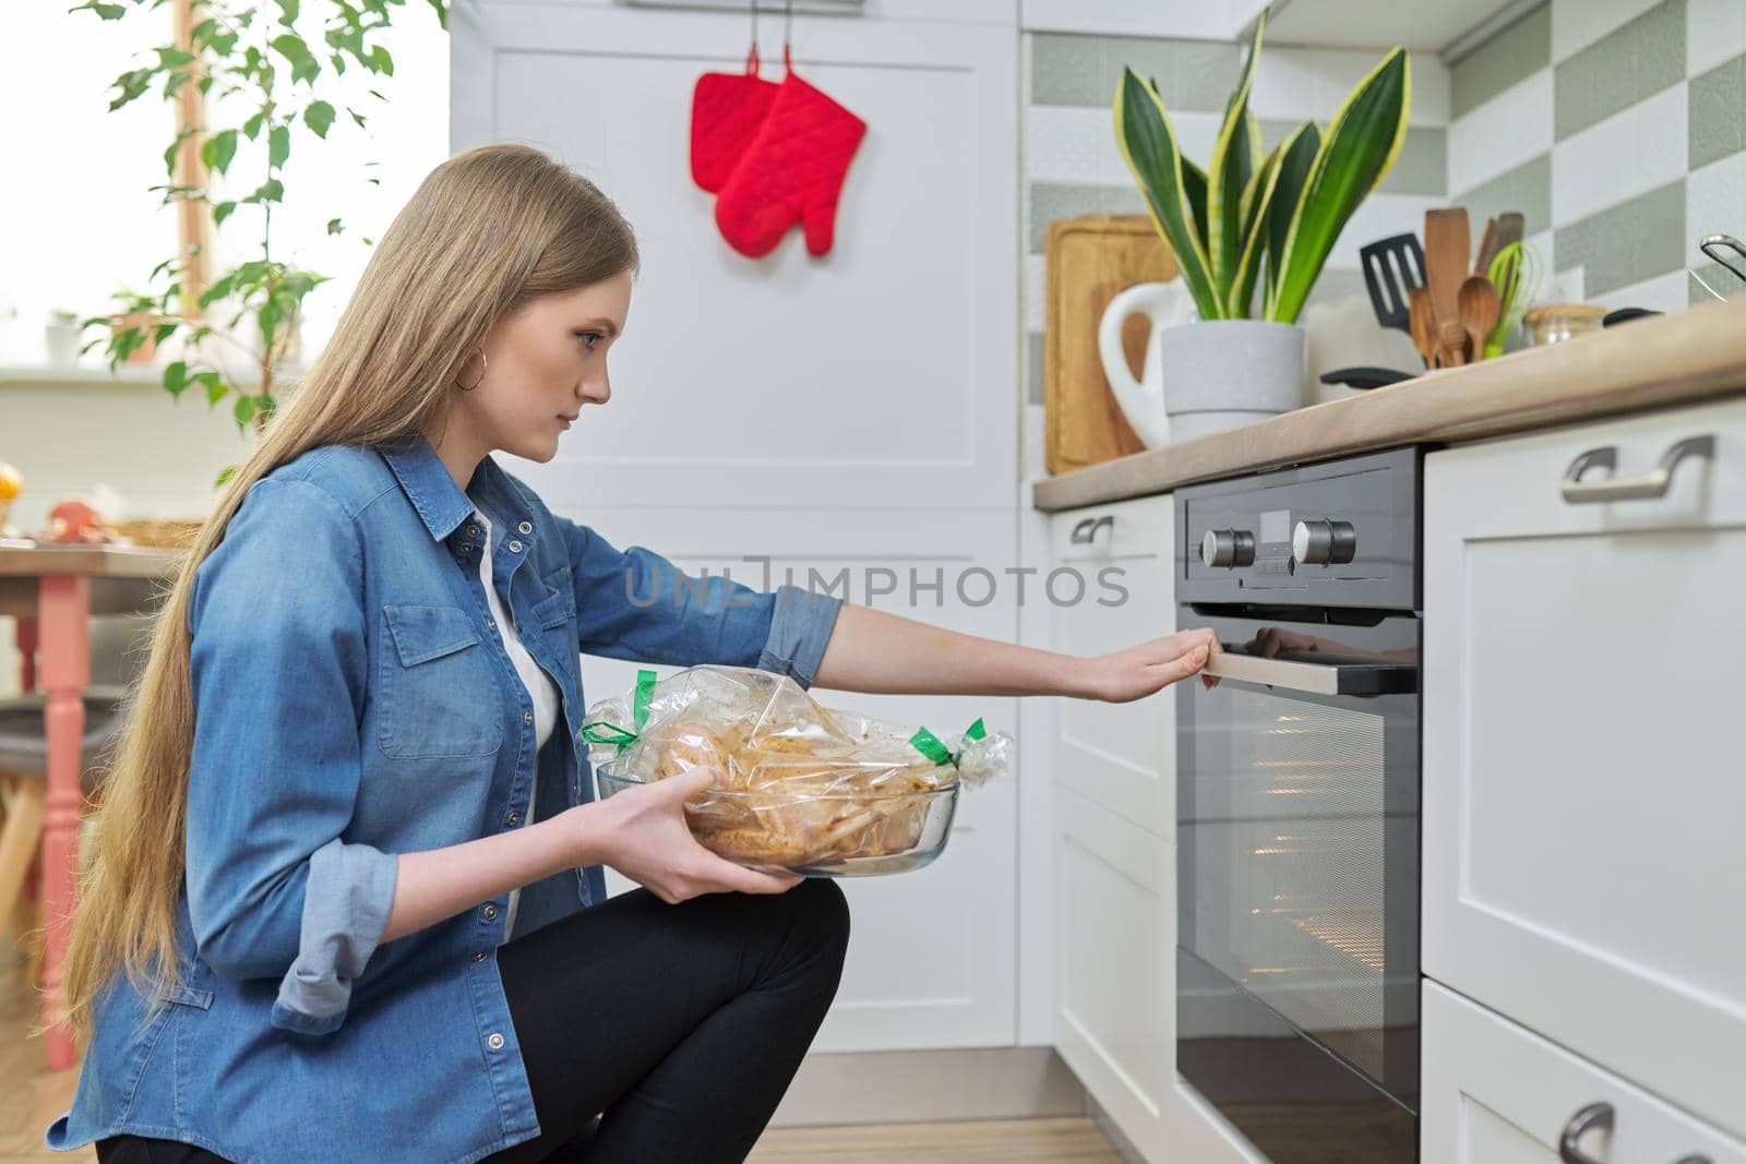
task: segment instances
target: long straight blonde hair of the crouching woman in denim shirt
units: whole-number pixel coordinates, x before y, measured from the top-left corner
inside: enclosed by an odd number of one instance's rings
[[[587,178],[522,145],[445,161],[395,216],[333,339],[225,483],[157,616],[79,874],[61,989],[80,1042],[117,972],[152,983],[159,1003],[180,984],[175,918],[197,714],[189,590],[250,485],[320,445],[416,436],[498,319],[540,295],[636,267],[636,237],[618,208]]]

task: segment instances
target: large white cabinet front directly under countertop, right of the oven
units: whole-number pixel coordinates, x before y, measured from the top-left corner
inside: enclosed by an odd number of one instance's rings
[[[1624,482],[1688,438],[1660,496],[1564,496],[1582,454]],[[1425,974],[1734,1136],[1743,579],[1746,400],[1426,457]]]

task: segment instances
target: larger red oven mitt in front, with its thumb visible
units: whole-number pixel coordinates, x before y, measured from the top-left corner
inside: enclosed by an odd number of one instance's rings
[[[716,225],[733,250],[761,258],[798,222],[807,250],[826,255],[836,236],[836,199],[868,126],[793,72],[779,89],[716,199]]]

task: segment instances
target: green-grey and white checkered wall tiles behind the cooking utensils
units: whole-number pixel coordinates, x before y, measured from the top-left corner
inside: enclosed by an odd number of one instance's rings
[[[1739,283],[1706,234],[1746,236],[1746,0],[1549,0],[1451,70],[1449,190],[1521,209],[1584,297],[1671,311]]]

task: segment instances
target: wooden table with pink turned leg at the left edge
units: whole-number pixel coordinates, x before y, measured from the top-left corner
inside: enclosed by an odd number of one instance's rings
[[[47,695],[47,778],[42,832],[42,890],[47,946],[42,955],[42,1021],[49,1068],[77,1052],[61,1021],[61,970],[79,873],[79,773],[86,733],[84,691],[91,681],[89,620],[154,607],[182,562],[178,550],[115,546],[0,546],[0,614],[17,620],[24,688]]]

